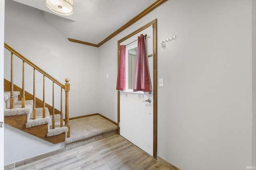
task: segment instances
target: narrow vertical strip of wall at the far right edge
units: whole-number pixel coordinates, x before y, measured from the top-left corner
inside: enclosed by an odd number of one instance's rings
[[[256,166],[256,1],[252,0],[252,166]]]

